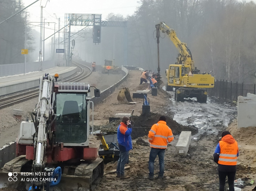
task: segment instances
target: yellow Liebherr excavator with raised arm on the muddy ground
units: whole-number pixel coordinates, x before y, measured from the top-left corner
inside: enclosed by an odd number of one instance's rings
[[[162,31],[169,36],[179,50],[177,62],[170,64],[166,70],[166,91],[172,91],[175,88],[176,101],[184,101],[184,98],[196,97],[197,102],[206,103],[206,90],[214,87],[214,77],[210,73],[201,73],[200,70],[194,67],[191,51],[186,43],[179,40],[174,29],[161,22],[156,25],[156,31],[158,39],[160,31]]]

